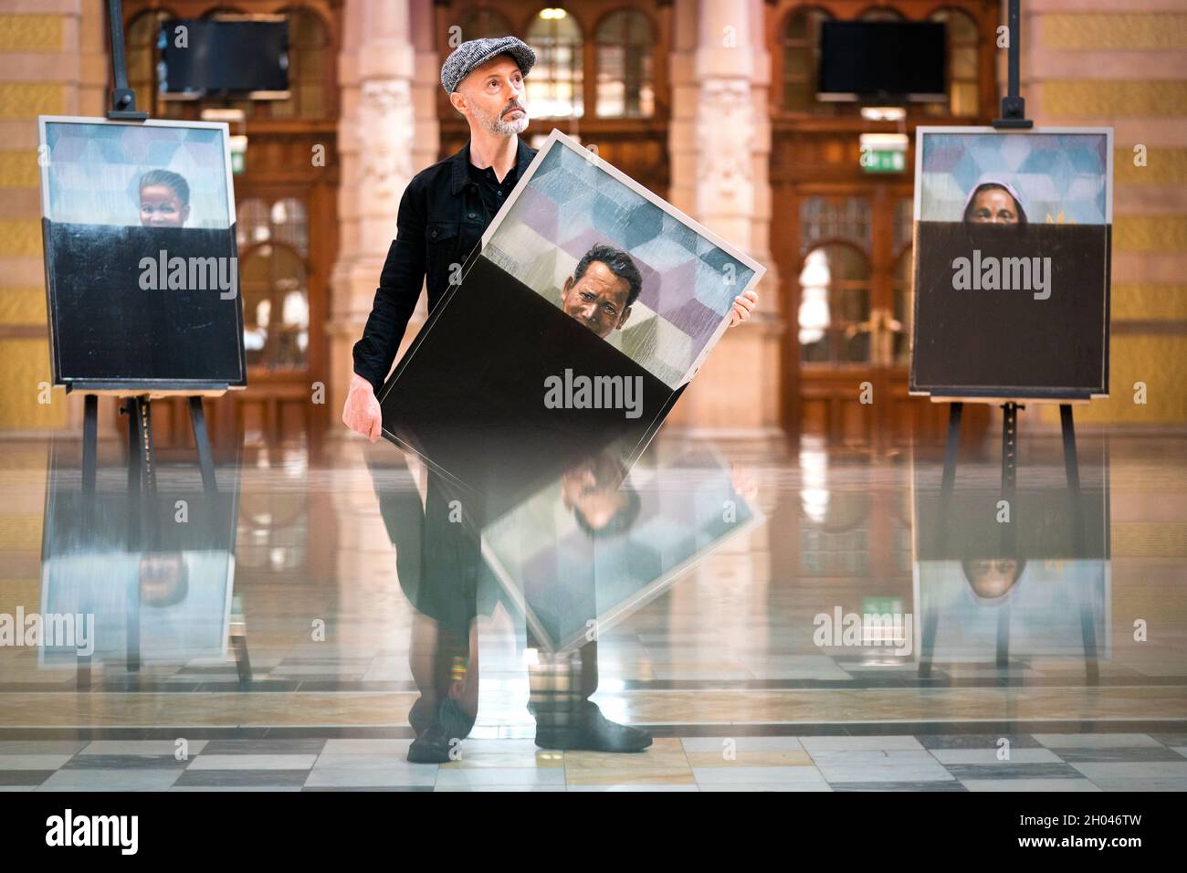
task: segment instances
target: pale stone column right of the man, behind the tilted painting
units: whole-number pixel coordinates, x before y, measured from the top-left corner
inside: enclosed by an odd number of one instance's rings
[[[760,311],[729,330],[677,404],[673,426],[779,432],[779,278],[769,249],[770,78],[761,0],[677,0],[672,55],[672,202],[768,272]],[[741,289],[740,289],[741,290]]]

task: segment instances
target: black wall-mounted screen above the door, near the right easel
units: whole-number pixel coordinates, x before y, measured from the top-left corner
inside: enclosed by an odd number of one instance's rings
[[[947,99],[940,21],[824,21],[817,99],[939,102]]]

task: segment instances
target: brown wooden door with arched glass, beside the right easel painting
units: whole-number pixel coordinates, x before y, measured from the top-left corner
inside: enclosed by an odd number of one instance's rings
[[[908,393],[909,181],[804,182],[776,200],[789,430],[881,448],[940,439],[946,406]]]

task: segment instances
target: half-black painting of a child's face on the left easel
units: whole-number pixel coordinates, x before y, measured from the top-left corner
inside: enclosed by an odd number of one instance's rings
[[[39,122],[55,384],[245,385],[227,125]]]

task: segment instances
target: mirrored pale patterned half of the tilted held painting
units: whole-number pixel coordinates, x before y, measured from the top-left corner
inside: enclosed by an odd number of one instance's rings
[[[488,563],[553,651],[589,641],[592,622],[609,630],[761,520],[712,451],[626,476],[621,451],[608,450],[482,531]]]

